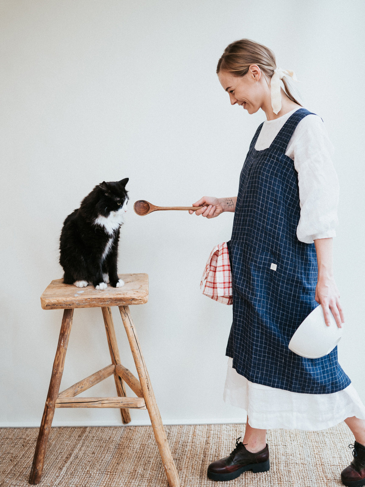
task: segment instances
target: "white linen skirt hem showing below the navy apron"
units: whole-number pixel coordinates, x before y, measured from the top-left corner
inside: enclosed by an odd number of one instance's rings
[[[247,412],[250,426],[317,431],[356,416],[365,419],[365,406],[352,384],[330,394],[293,393],[249,381],[228,358],[223,399]]]

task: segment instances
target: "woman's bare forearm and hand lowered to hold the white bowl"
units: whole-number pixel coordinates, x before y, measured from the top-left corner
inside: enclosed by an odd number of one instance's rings
[[[314,245],[318,261],[318,281],[315,288],[315,300],[323,309],[326,325],[330,325],[330,315],[334,316],[337,326],[342,328],[345,323],[344,313],[340,304],[340,293],[332,273],[332,239],[316,239]]]

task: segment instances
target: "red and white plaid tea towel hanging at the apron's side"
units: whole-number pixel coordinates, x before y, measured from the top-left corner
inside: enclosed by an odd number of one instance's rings
[[[232,304],[232,273],[227,244],[218,244],[205,265],[200,287],[205,296],[223,304]]]

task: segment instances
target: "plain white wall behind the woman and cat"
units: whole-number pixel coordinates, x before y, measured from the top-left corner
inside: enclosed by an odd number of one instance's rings
[[[335,275],[346,311],[344,370],[364,384],[364,3],[361,1],[2,0],[0,425],[39,425],[62,311],[39,296],[62,276],[64,218],[95,184],[129,177],[130,202],[190,205],[237,194],[263,112],[231,107],[216,64],[252,38],[293,69],[322,116],[341,183]],[[233,214],[128,214],[120,272],[146,272],[131,308],[165,423],[244,422],[223,402],[232,307],[201,295],[212,247]],[[123,363],[134,370],[113,309]],[[110,363],[101,311],[77,309],[61,388]],[[92,391],[92,390],[91,390]],[[89,391],[86,395],[89,394]],[[112,377],[92,395],[114,395]],[[131,411],[131,424],[147,424]],[[57,410],[56,425],[121,424],[118,410]]]

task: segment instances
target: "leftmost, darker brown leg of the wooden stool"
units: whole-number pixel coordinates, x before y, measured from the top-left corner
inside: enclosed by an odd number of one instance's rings
[[[55,401],[58,396],[59,386],[63,374],[63,366],[65,363],[65,356],[67,345],[72,326],[73,309],[65,309],[63,312],[61,330],[59,332],[57,351],[55,361],[53,363],[50,387],[46,405],[44,407],[42,422],[40,423],[36,451],[34,453],[33,464],[29,476],[30,484],[38,484],[42,476],[44,465],[44,456],[46,454],[48,436],[50,434],[53,416],[55,414]]]

